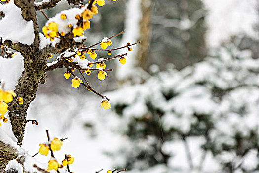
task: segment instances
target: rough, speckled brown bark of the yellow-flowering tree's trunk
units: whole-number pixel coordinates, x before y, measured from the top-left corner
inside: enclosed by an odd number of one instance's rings
[[[15,51],[18,51],[24,57],[24,71],[20,77],[15,88],[15,93],[23,98],[24,104],[20,105],[18,102],[14,103],[9,109],[9,119],[12,125],[12,131],[18,140],[18,145],[22,145],[24,136],[24,129],[26,125],[26,111],[31,102],[36,97],[36,91],[39,83],[45,83],[45,76],[47,71],[46,56],[49,53],[61,53],[69,47],[82,44],[75,43],[73,34],[70,33],[61,39],[55,47],[48,46],[44,49],[39,49],[39,29],[36,18],[36,10],[51,8],[61,0],[53,0],[43,3],[43,5],[35,5],[34,0],[14,0],[16,6],[21,8],[22,16],[26,21],[33,21],[34,27],[34,42],[31,45],[24,45],[22,43],[12,43],[10,40],[2,41],[1,45],[8,46]],[[67,0],[68,3],[77,4],[82,0]],[[4,172],[7,163],[17,157],[16,150],[10,145],[0,141],[0,173]]]

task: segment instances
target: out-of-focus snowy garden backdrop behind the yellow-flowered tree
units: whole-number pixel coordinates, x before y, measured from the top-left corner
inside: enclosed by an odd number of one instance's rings
[[[125,65],[107,63],[114,71],[104,81],[87,76],[111,109],[72,88],[65,69],[49,72],[28,112],[39,125],[27,125],[23,147],[37,153],[48,129],[68,137],[58,158],[71,154],[75,173],[259,173],[259,1],[106,0],[85,45],[122,30],[111,48],[142,43],[112,52],[129,55]]]

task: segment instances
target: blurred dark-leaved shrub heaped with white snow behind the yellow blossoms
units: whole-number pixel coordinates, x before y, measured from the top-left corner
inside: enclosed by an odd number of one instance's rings
[[[131,146],[123,164],[160,165],[161,173],[258,170],[259,59],[235,43],[181,71],[109,93]]]

